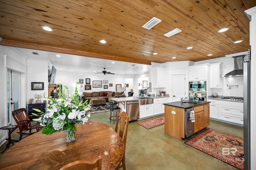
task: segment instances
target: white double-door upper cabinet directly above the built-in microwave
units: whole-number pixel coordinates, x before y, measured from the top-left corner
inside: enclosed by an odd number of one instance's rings
[[[208,65],[200,66],[189,66],[188,67],[188,80],[189,81],[200,81],[207,79]]]

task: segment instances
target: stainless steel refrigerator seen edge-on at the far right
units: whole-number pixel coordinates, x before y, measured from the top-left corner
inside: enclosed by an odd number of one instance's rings
[[[251,53],[244,57],[244,170],[250,170]]]

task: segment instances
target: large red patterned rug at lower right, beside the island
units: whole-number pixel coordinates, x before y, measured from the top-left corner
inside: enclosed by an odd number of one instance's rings
[[[214,161],[223,161],[244,170],[244,139],[208,128],[185,142],[206,154]]]

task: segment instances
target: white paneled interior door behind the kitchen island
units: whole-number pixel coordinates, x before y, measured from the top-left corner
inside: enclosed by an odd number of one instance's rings
[[[185,97],[185,75],[172,76],[172,101]]]

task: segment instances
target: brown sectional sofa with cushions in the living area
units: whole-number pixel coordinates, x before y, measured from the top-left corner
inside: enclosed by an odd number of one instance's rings
[[[114,97],[122,97],[122,92],[114,92],[114,91],[94,91],[94,92],[84,92],[81,95],[81,99],[83,102],[85,102],[87,99],[90,101],[92,98],[99,98],[102,97],[106,99],[106,102],[108,102],[109,98],[114,98]]]

